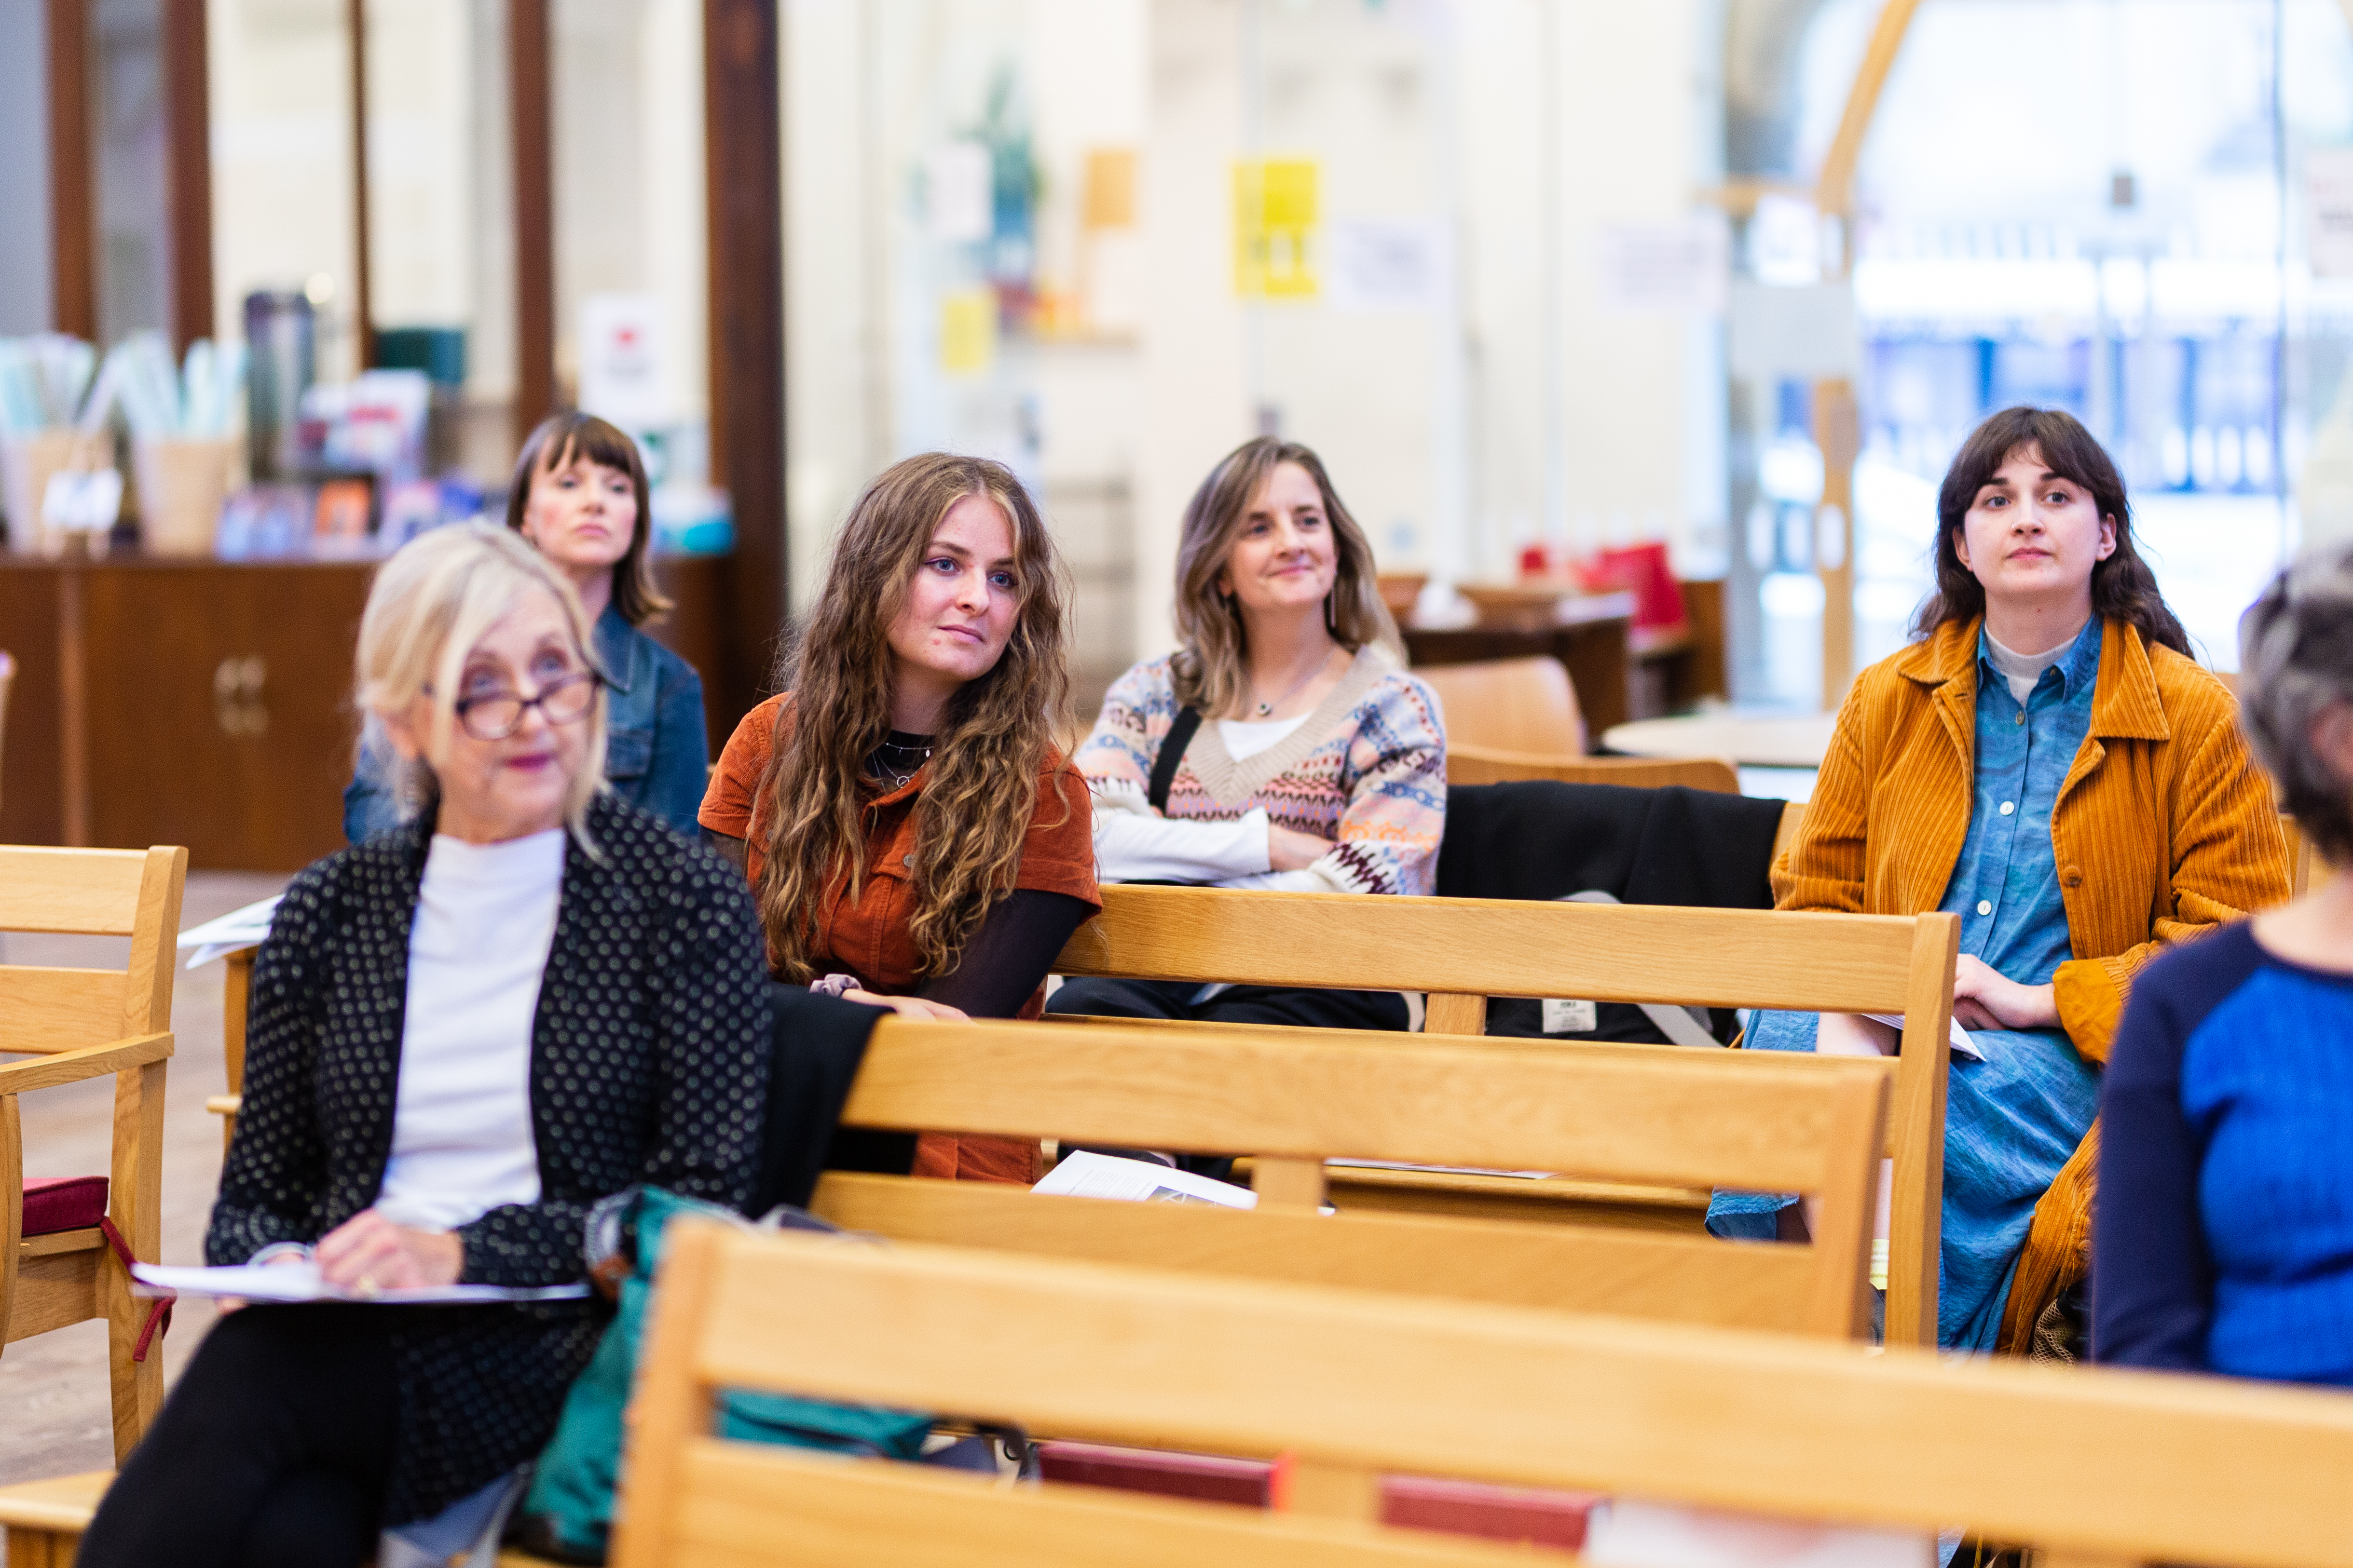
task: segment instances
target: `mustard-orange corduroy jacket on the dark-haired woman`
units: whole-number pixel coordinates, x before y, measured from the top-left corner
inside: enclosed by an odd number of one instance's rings
[[[1774,907],[1925,914],[1944,900],[1977,780],[1977,632],[1979,621],[1946,623],[1854,682],[1798,839],[1774,863]],[[2094,1063],[2160,945],[2287,898],[2287,842],[2231,691],[2118,621],[2101,632],[2092,729],[2052,809],[2052,856],[2075,952],[2052,976],[2059,1027]],[[2082,1279],[2097,1164],[2094,1121],[2035,1206],[2002,1349]]]

